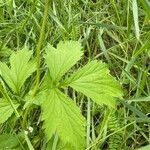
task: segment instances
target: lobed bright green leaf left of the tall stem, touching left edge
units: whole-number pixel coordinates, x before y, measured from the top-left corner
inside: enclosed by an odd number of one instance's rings
[[[36,63],[30,60],[32,51],[24,48],[10,56],[10,67],[0,62],[0,74],[7,85],[19,93],[26,79],[36,70]]]

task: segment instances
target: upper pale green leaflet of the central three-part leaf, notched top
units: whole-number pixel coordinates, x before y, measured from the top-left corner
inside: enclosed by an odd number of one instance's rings
[[[81,59],[81,48],[81,44],[76,41],[60,42],[57,49],[48,45],[45,59],[54,82],[57,83]]]

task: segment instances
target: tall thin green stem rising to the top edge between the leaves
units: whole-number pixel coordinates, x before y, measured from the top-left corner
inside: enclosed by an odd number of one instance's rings
[[[36,85],[35,85],[35,89],[34,89],[34,94],[36,94],[36,92],[39,88],[39,83],[40,83],[40,62],[41,62],[40,51],[41,51],[42,43],[44,40],[45,28],[46,28],[46,23],[47,23],[47,17],[48,17],[50,2],[51,2],[51,0],[46,0],[46,2],[45,2],[44,17],[43,17],[43,21],[42,21],[42,27],[41,27],[41,31],[40,31],[39,41],[38,41],[37,47],[36,47],[37,76],[36,76]]]

